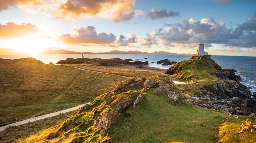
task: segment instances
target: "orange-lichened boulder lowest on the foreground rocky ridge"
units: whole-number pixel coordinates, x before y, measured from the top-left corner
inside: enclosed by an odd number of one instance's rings
[[[110,127],[115,124],[120,115],[121,113],[119,113],[118,111],[106,108],[98,116],[98,119],[94,121],[94,126],[98,129],[104,129],[105,131],[108,131]]]

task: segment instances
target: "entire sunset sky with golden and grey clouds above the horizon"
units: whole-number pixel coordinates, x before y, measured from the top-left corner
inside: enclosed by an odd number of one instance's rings
[[[1,0],[0,48],[256,56],[256,0]]]

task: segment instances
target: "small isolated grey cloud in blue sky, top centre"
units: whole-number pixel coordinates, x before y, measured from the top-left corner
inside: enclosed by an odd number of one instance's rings
[[[146,14],[146,17],[151,19],[151,20],[162,19],[162,18],[167,18],[167,17],[176,17],[176,16],[180,16],[180,12],[174,12],[172,10],[167,12],[166,9],[162,9],[160,11],[157,11],[156,8],[151,9]]]

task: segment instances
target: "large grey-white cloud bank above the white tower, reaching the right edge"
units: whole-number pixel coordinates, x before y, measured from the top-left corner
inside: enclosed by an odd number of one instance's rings
[[[227,27],[222,21],[215,22],[213,18],[203,18],[200,21],[191,18],[182,23],[166,23],[165,26],[167,26],[166,29],[160,28],[147,35],[150,40],[156,40],[156,43],[160,40],[160,44],[165,49],[169,47],[193,49],[201,42],[209,46],[222,44],[226,47],[256,47],[256,19],[254,17],[247,17],[247,21],[235,29]],[[141,45],[152,45],[146,44],[145,39],[147,38],[142,40]]]

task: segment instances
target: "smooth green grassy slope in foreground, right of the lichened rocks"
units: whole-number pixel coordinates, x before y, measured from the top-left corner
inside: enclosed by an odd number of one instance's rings
[[[173,105],[166,95],[146,99],[122,114],[107,142],[214,142],[226,114],[188,104]]]

